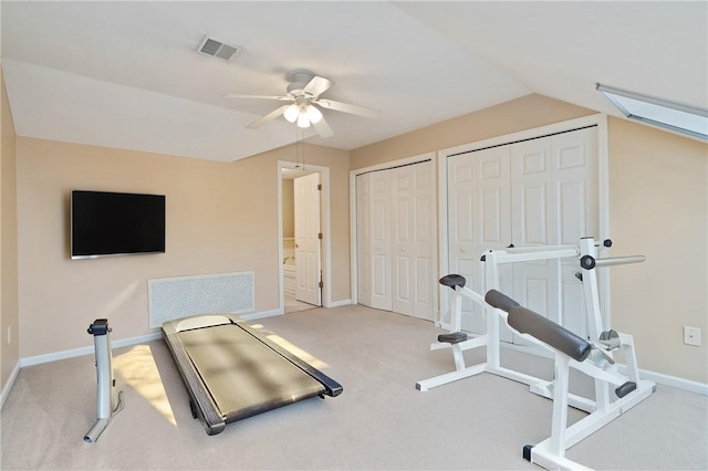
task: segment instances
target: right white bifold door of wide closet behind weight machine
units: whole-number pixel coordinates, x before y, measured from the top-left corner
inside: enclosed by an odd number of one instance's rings
[[[577,244],[597,227],[596,128],[511,145],[512,227],[517,247]],[[517,263],[513,297],[585,334],[574,260]]]

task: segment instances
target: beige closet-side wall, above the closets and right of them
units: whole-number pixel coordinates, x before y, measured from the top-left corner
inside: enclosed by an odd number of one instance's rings
[[[352,150],[352,169],[594,113],[529,95]],[[624,119],[608,134],[612,254],[647,257],[613,269],[612,326],[634,335],[641,368],[708,383],[708,146]],[[683,344],[684,325],[701,347]]]

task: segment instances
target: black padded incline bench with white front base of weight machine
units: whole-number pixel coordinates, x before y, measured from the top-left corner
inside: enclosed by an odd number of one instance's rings
[[[522,337],[550,347],[554,352],[554,381],[552,388],[553,417],[551,437],[542,442],[523,447],[523,458],[549,470],[589,469],[565,458],[565,450],[594,433],[650,393],[648,385],[637,385],[613,368],[614,360],[604,345],[593,345],[554,322],[520,306],[502,293],[491,290],[486,301],[507,313],[507,324]],[[568,427],[569,378],[573,367],[602,384],[612,385],[616,400],[597,402],[596,409]],[[648,383],[648,381],[644,381]]]

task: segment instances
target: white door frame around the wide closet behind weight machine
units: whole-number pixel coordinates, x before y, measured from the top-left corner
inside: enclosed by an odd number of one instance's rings
[[[610,231],[610,189],[608,189],[608,146],[607,146],[607,115],[604,113],[597,113],[590,116],[583,116],[575,119],[569,119],[560,123],[554,123],[546,126],[534,127],[531,129],[521,130],[518,133],[507,134],[503,136],[497,136],[489,139],[478,140],[476,143],[464,144],[460,146],[450,147],[447,149],[438,150],[438,260],[440,266],[440,273],[448,274],[449,264],[449,247],[447,243],[447,229],[448,229],[448,214],[447,214],[447,159],[456,154],[469,153],[480,150],[487,147],[503,146],[520,140],[537,139],[539,137],[549,136],[558,133],[565,133],[573,129],[579,129],[587,126],[597,126],[597,197],[600,198],[597,205],[597,230],[598,234],[595,234],[597,240],[604,240],[608,238]],[[480,254],[481,255],[481,254]],[[437,325],[440,325],[440,315],[449,310],[448,296],[442,295],[442,286],[438,286],[439,293],[439,306],[440,310],[437,313]],[[600,300],[602,304],[602,311],[605,317],[605,325],[610,325],[610,273],[606,273],[602,278],[598,286]]]

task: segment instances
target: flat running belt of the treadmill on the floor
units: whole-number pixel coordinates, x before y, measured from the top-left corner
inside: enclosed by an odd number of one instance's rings
[[[180,332],[187,355],[228,418],[322,394],[322,385],[235,325]]]

